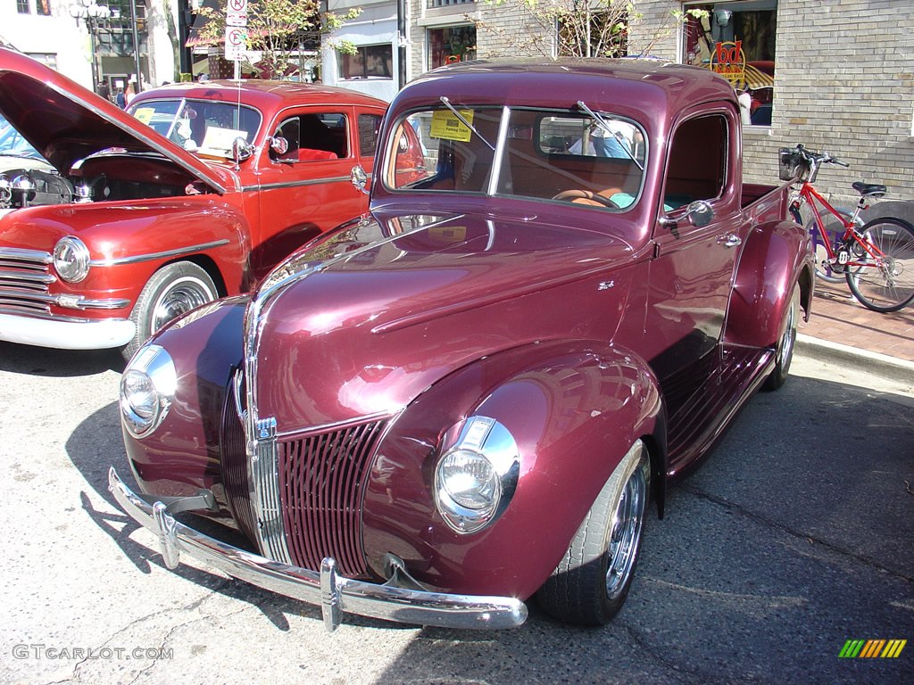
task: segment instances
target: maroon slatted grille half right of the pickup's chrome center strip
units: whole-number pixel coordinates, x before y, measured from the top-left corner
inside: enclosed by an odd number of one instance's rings
[[[286,541],[292,563],[318,569],[332,556],[348,577],[367,576],[362,494],[383,421],[279,443]]]

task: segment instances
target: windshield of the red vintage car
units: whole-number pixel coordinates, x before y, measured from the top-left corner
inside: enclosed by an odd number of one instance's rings
[[[230,102],[209,100],[145,100],[130,113],[192,153],[230,157],[236,139],[253,142],[260,112]]]

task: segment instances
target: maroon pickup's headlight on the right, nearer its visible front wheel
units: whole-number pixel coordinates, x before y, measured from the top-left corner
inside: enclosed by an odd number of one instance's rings
[[[452,428],[457,435],[435,469],[435,503],[456,532],[475,532],[494,522],[514,495],[520,457],[514,437],[486,416]]]

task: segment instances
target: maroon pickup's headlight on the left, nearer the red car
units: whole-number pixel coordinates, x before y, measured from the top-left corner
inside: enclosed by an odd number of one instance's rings
[[[162,425],[176,386],[175,363],[163,347],[147,345],[136,353],[121,376],[121,416],[133,436],[146,437]]]

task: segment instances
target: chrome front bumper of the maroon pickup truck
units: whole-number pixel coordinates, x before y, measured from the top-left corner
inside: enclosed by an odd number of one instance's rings
[[[508,628],[526,620],[526,606],[514,597],[447,595],[394,585],[377,585],[336,573],[333,559],[324,559],[320,573],[271,561],[195,531],[179,522],[165,504],[149,504],[108,471],[108,489],[136,522],[159,537],[165,564],[175,568],[186,553],[220,571],[312,605],[320,605],[324,627],[333,631],[343,614],[382,618],[399,623],[454,628]]]

